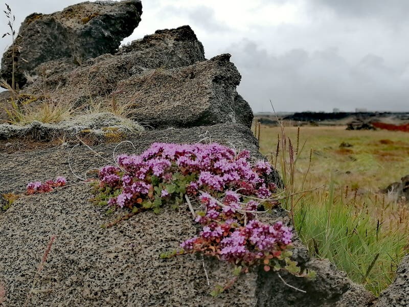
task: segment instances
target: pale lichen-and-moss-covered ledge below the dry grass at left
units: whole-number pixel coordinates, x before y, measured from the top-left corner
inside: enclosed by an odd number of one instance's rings
[[[0,124],[0,140],[31,138],[50,141],[57,137],[75,138],[77,135],[92,138],[95,143],[119,142],[144,128],[138,123],[111,113],[79,115],[56,124],[33,122],[28,125]]]

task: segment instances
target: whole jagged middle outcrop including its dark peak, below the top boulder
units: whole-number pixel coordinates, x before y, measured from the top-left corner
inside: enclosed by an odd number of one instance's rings
[[[230,54],[206,60],[189,26],[156,31],[81,66],[49,61],[30,75],[25,93],[76,109],[98,101],[154,128],[225,122],[249,127],[253,120],[252,109],[237,94],[241,76]]]

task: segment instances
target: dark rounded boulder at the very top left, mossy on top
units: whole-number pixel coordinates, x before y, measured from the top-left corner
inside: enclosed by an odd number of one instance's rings
[[[23,72],[41,63],[59,58],[81,63],[115,53],[121,40],[138,26],[141,14],[140,0],[84,2],[52,14],[31,14],[21,24],[14,47],[3,55],[0,75],[11,82],[13,48],[20,87],[26,83]]]

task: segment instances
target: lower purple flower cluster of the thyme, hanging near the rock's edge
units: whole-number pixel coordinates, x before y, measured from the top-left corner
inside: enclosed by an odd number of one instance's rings
[[[219,202],[209,193],[201,193],[198,199],[206,209],[205,214],[196,216],[203,229],[198,237],[180,245],[185,251],[217,254],[226,261],[248,265],[291,244],[290,227],[282,222],[268,225],[255,219],[260,204],[254,200],[241,203],[242,196],[231,190]]]

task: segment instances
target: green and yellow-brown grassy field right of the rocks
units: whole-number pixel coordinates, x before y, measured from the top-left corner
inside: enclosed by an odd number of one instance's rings
[[[298,193],[283,205],[293,208],[300,237],[311,255],[329,258],[352,280],[379,295],[393,281],[400,259],[409,253],[407,203],[379,192],[409,174],[409,134],[349,131],[345,126],[301,127],[297,155],[297,127],[284,130],[283,152],[281,128],[261,126],[260,150],[272,157],[284,177],[285,193]],[[343,142],[352,146],[340,147]],[[311,189],[315,190],[300,193]]]

